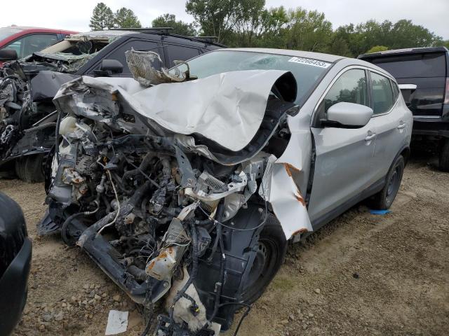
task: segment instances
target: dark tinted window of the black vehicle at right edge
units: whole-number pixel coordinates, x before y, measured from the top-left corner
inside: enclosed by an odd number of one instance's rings
[[[445,77],[444,53],[401,55],[373,59],[373,64],[387,70],[394,78]]]

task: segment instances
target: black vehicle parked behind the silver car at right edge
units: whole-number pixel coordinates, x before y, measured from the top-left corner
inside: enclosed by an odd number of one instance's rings
[[[391,73],[413,112],[413,134],[438,141],[439,168],[449,172],[449,50],[388,50],[360,55]]]

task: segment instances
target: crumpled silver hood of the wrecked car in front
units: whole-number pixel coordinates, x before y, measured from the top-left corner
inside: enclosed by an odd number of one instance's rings
[[[142,87],[133,78],[83,76],[62,85],[54,102],[58,109],[65,112],[70,109],[77,114],[79,93],[88,92],[89,87],[105,90],[112,100],[117,99],[122,106],[129,106],[166,130],[185,135],[201,134],[230,151],[240,151],[255,136],[270,91],[286,73],[288,71],[232,71],[152,87]],[[296,92],[294,78],[289,84],[290,90]],[[92,107],[94,105],[95,102],[91,103]]]

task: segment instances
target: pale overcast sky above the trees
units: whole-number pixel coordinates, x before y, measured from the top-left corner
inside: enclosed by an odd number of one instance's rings
[[[1,1],[1,25],[27,25],[88,31],[95,0],[19,0]],[[134,11],[142,26],[148,27],[157,16],[173,13],[180,20],[191,22],[185,13],[185,0],[103,0],[113,11],[128,7]],[[412,20],[444,39],[449,39],[449,0],[267,0],[267,7],[302,6],[319,10],[333,28],[348,23],[401,19]]]

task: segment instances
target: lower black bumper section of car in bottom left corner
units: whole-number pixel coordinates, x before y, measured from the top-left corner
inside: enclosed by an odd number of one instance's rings
[[[32,242],[25,238],[22,248],[0,279],[0,336],[9,335],[20,321],[27,302],[27,283]]]

